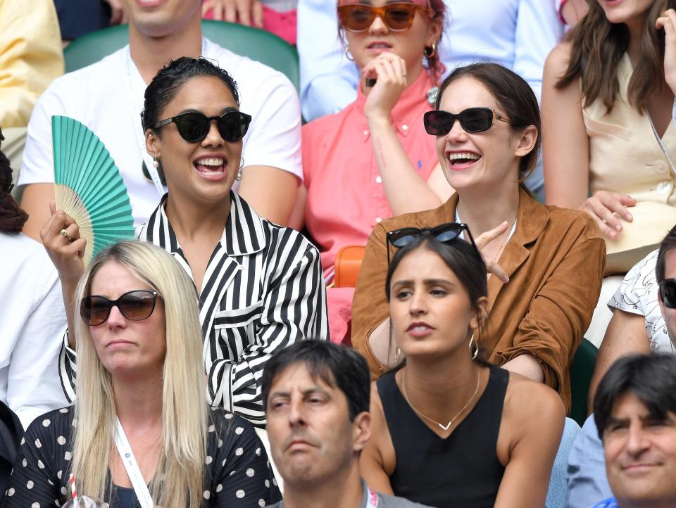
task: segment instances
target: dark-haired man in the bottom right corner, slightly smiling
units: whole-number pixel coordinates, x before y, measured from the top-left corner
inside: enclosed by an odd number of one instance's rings
[[[676,506],[676,357],[624,357],[594,400],[608,483],[615,497],[595,508]]]

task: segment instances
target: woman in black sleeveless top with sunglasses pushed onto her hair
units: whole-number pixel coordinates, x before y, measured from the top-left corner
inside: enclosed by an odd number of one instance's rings
[[[543,507],[563,404],[483,360],[487,273],[462,229],[388,236],[388,248],[401,247],[386,293],[406,360],[375,382],[362,474],[376,490],[432,507]]]

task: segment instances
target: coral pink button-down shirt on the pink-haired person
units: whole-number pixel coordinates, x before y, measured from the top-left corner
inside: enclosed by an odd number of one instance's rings
[[[438,163],[434,136],[423,127],[423,114],[433,109],[427,102],[432,87],[427,72],[421,72],[392,110],[399,142],[424,180]],[[332,274],[341,247],[366,245],[375,224],[392,217],[373,154],[365,102],[359,89],[356,101],[344,110],[303,127],[305,224],[318,243],[326,277]]]

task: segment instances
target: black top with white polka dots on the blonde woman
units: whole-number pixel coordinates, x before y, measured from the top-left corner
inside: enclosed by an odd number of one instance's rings
[[[223,409],[211,409],[210,419],[203,508],[261,507],[281,500],[265,448],[249,421]],[[46,413],[30,425],[4,493],[3,508],[65,503],[72,431],[73,407]],[[105,501],[111,503],[110,508],[126,508],[118,496]]]

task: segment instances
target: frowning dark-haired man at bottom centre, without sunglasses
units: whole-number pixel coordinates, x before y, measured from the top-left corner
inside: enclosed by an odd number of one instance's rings
[[[263,405],[273,459],[284,479],[275,508],[423,508],[375,493],[359,472],[371,435],[370,378],[354,350],[301,341],[263,372]]]

